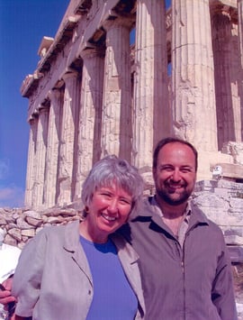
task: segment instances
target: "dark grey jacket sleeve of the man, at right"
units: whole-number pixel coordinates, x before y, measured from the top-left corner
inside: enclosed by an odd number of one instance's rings
[[[222,251],[218,260],[215,279],[212,283],[211,300],[217,307],[220,319],[237,320],[233,278],[229,252],[221,235]]]

